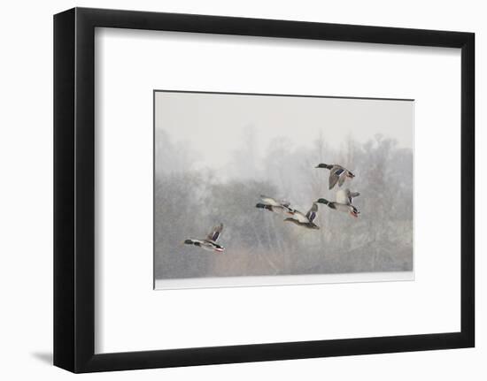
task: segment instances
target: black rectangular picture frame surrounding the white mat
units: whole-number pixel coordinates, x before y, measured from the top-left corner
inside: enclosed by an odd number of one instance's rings
[[[461,50],[461,330],[360,339],[95,354],[95,28]],[[380,354],[475,345],[475,34],[144,11],[54,16],[54,364],[76,373]],[[440,127],[435,127],[440,128]]]

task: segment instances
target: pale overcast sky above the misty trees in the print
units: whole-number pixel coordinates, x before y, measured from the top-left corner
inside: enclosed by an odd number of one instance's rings
[[[382,133],[414,149],[412,101],[170,92],[157,92],[155,101],[156,128],[195,150],[198,166],[228,164],[250,126],[257,156],[276,137],[311,147],[320,133],[336,148],[348,136],[365,142]]]

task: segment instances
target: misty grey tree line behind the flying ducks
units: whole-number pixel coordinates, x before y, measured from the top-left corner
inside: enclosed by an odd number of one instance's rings
[[[249,130],[235,152],[231,180],[192,168],[194,154],[158,130],[155,176],[156,278],[285,275],[413,268],[413,152],[381,135],[361,144],[349,138],[331,147],[322,135],[310,147],[276,138],[258,161],[255,133]],[[259,164],[258,164],[259,162]],[[356,178],[344,187],[359,191],[353,200],[359,218],[320,205],[318,231],[284,223],[258,210],[259,195],[285,199],[306,212],[313,201],[335,201],[329,171],[318,163],[342,164]],[[205,238],[222,222],[224,253],[182,245]]]

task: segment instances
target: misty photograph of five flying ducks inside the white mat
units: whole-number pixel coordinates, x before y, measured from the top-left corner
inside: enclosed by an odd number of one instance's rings
[[[413,179],[412,99],[156,90],[155,288],[412,280]]]

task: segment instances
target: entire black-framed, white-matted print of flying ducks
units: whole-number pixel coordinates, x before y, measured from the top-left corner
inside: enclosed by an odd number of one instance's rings
[[[473,347],[474,51],[462,32],[55,15],[55,365]]]

